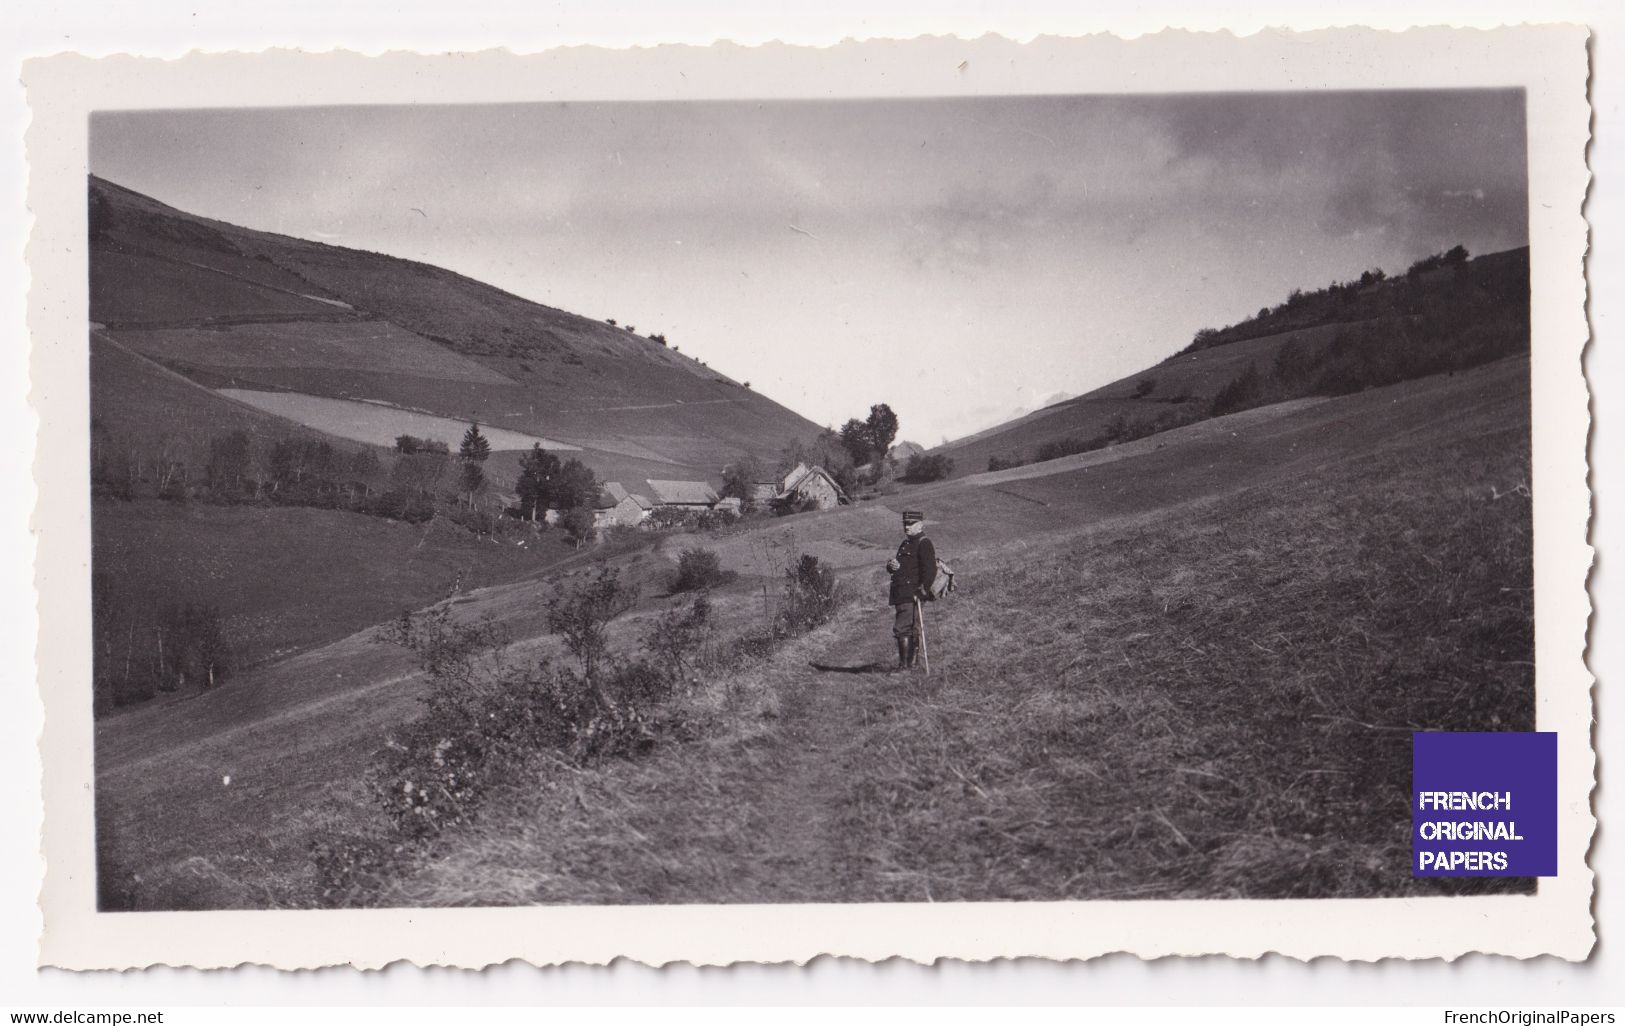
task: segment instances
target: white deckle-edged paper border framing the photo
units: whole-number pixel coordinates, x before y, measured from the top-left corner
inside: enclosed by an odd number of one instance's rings
[[[1586,545],[1588,338],[1583,260],[1586,29],[1162,33],[1014,44],[918,39],[562,49],[536,55],[210,54],[180,60],[58,55],[26,65],[36,229],[29,332],[39,538],[39,686],[46,706],[46,930],[60,967],[328,964],[488,966],[806,961],[817,954],[990,959],[1131,951],[1294,958],[1584,958],[1594,943],[1596,821]],[[84,176],[88,114],[106,109],[861,98],[1521,86],[1529,125],[1537,727],[1558,733],[1558,876],[1534,896],[1329,901],[1082,901],[853,906],[94,911],[89,680],[89,411]]]

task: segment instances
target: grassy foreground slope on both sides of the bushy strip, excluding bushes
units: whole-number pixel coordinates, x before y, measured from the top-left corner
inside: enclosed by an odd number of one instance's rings
[[[1089,465],[912,491],[960,590],[933,673],[889,655],[897,511],[715,540],[730,629],[796,554],[843,567],[832,624],[684,699],[637,759],[543,759],[369,904],[1424,893],[1409,730],[1532,717],[1528,361],[1251,411]],[[609,554],[668,608],[671,548]],[[569,569],[569,567],[567,567]],[[554,649],[557,576],[457,605]],[[817,670],[835,667],[850,673]],[[98,733],[104,868],[135,907],[309,904],[310,841],[385,831],[367,753],[418,711],[362,636]],[[294,746],[297,758],[289,758]],[[162,759],[162,774],[153,772]],[[223,785],[224,774],[232,784]],[[185,808],[176,829],[164,808]],[[138,880],[136,880],[138,878]],[[1526,881],[1485,886],[1526,888]]]

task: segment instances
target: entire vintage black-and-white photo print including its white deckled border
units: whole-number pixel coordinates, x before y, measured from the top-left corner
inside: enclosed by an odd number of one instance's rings
[[[57,62],[58,964],[1573,951],[1566,39]],[[1414,737],[1534,730],[1563,868],[1419,875]]]

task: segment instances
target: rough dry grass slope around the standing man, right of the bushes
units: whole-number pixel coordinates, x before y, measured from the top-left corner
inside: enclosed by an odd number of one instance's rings
[[[713,681],[694,741],[538,769],[382,904],[1321,898],[1409,873],[1412,730],[1534,722],[1528,420],[960,553],[933,675]]]

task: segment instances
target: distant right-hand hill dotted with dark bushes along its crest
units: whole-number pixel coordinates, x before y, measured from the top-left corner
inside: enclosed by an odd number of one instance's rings
[[[1103,447],[1266,402],[1476,366],[1528,351],[1528,249],[1420,262],[1398,278],[1294,293],[1235,325],[1198,332],[1154,367],[936,452],[970,475],[990,460],[1050,459],[1046,446]]]

